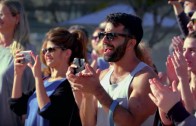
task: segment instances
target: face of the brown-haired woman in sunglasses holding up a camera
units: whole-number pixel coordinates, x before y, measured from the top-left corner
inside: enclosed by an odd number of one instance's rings
[[[46,65],[49,67],[55,68],[64,63],[62,60],[63,50],[50,41],[47,42],[46,48],[42,49],[42,53],[44,54]]]

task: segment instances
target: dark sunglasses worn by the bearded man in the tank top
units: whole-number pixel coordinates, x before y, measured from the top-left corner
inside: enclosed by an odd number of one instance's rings
[[[104,36],[106,36],[106,39],[108,41],[112,41],[112,40],[114,40],[115,37],[118,37],[118,36],[133,38],[133,36],[130,36],[130,35],[127,35],[127,34],[122,34],[122,33],[112,33],[112,32],[111,33],[105,33],[105,32],[100,32],[98,34],[98,37],[99,37],[100,40],[103,39]]]

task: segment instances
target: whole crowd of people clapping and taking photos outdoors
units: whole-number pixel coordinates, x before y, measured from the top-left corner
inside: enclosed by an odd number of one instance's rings
[[[196,1],[168,3],[182,34],[163,73],[137,15],[108,14],[92,35],[54,27],[37,54],[23,5],[1,0],[0,126],[195,126]]]

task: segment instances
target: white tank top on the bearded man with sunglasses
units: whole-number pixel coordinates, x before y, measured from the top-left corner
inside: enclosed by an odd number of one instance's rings
[[[106,90],[106,92],[110,95],[113,100],[117,100],[121,106],[124,108],[128,108],[128,91],[130,84],[135,76],[140,70],[142,70],[146,65],[143,62],[140,62],[135,69],[127,75],[122,81],[118,82],[118,84],[110,84],[110,76],[113,72],[111,68],[108,73],[101,80],[101,85]],[[97,126],[109,126],[109,117],[108,113],[106,113],[102,105],[98,102],[98,110],[97,110]]]

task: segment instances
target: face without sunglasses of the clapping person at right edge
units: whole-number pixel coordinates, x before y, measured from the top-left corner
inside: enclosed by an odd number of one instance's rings
[[[183,55],[187,62],[188,70],[196,73],[196,39],[185,39],[183,46]]]

